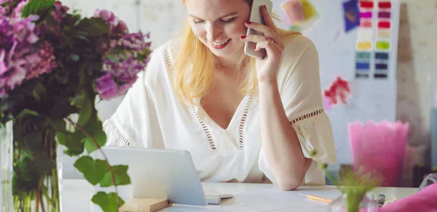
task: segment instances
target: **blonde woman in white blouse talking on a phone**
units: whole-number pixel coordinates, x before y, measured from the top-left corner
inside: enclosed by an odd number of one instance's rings
[[[324,184],[317,162],[336,152],[312,42],[276,28],[265,7],[267,24],[249,23],[252,0],[184,3],[182,34],[154,50],[104,122],[107,145],[189,151],[202,181]],[[246,56],[246,41],[267,56]]]

